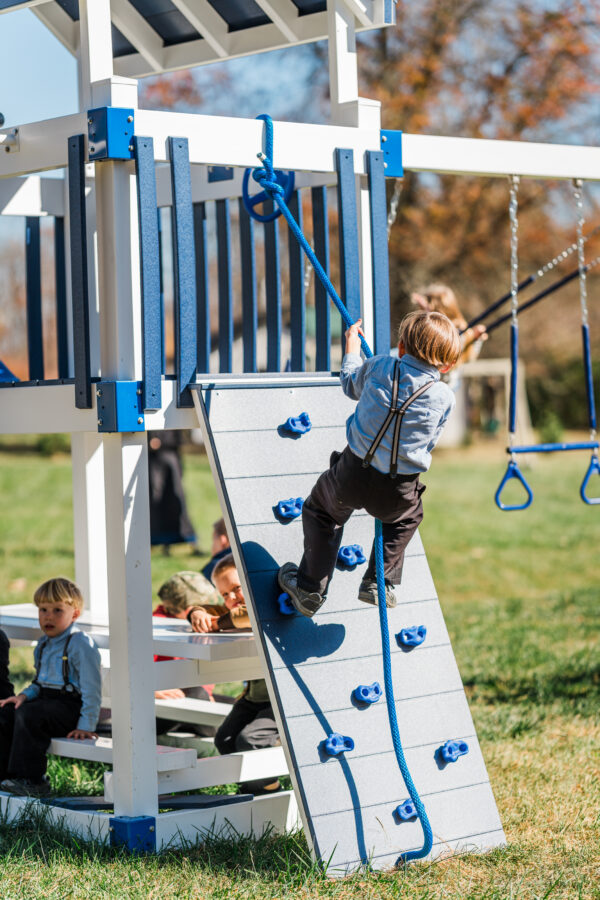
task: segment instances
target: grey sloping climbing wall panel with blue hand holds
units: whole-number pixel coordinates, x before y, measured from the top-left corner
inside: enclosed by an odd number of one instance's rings
[[[277,504],[308,496],[331,452],[345,446],[354,403],[337,379],[314,377],[268,386],[224,381],[195,389],[195,403],[307,837],[330,874],[365,863],[388,868],[423,839],[419,821],[396,811],[408,792],[385,697],[369,704],[353,696],[359,685],[383,689],[377,610],[357,597],[366,563],[336,570],[313,619],[285,615],[278,603],[277,570],[300,561],[302,522],[282,518]],[[311,422],[304,433],[302,413]],[[296,431],[286,428],[289,417],[300,419]],[[368,558],[372,540],[373,520],[355,513],[342,545],[359,545]],[[496,847],[504,843],[502,825],[418,534],[397,596],[389,610],[394,695],[433,830],[431,858]],[[411,628],[412,645],[396,640]],[[324,742],[332,733],[350,737],[354,749],[330,756]],[[454,762],[444,759],[448,741],[463,751]]]

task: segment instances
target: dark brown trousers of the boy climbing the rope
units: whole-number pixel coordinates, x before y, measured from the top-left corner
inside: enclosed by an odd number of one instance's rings
[[[390,478],[349,447],[331,455],[330,468],[320,476],[302,508],[304,556],[298,585],[325,594],[335,569],[344,525],[356,509],[365,509],[383,524],[383,560],[386,581],[402,579],[404,551],[423,519],[421,494],[425,485],[418,475]],[[364,575],[375,580],[375,551]]]

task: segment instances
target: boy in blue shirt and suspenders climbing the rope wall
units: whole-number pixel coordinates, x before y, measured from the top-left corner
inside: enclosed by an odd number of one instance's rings
[[[458,331],[443,313],[418,310],[400,323],[398,359],[360,356],[361,320],[346,332],[340,380],[358,400],[346,423],[348,446],[334,452],[330,468],[304,502],[304,555],[286,563],[279,584],[298,612],[312,617],[326,599],[345,523],[354,510],[383,525],[386,603],[396,605],[393,587],[402,578],[404,551],[423,519],[419,474],[431,465],[431,451],[454,406],[440,381],[460,354]],[[377,605],[375,552],[358,597]]]

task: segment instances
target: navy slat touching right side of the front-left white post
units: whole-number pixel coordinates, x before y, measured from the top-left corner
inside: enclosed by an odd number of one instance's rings
[[[142,353],[144,409],[160,409],[162,374],[162,317],[160,306],[160,244],[154,171],[154,141],[134,137],[140,230],[142,281]]]

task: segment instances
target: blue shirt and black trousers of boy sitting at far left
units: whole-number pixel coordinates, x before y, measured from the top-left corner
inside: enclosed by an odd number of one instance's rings
[[[34,661],[35,680],[22,691],[25,703],[0,708],[0,781],[39,781],[52,738],[76,728],[94,731],[98,721],[100,652],[87,634],[70,625],[56,637],[41,638]]]

